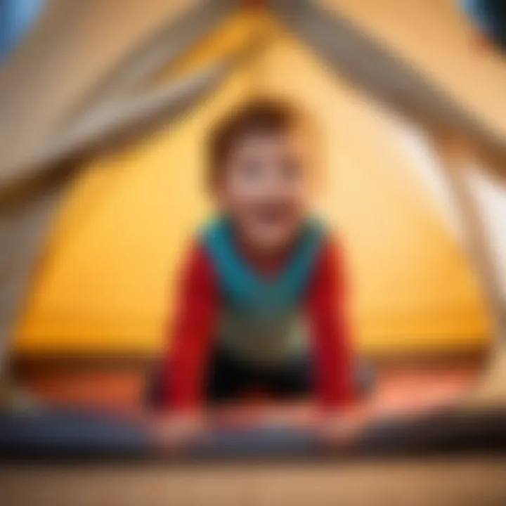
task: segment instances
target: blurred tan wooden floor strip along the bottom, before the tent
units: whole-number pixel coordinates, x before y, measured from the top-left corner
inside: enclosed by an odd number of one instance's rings
[[[506,460],[0,469],[5,506],[506,505]]]

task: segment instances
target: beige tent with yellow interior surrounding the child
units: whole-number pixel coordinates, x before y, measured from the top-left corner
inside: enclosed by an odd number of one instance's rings
[[[203,136],[258,94],[320,124],[319,212],[344,241],[360,351],[505,338],[498,212],[476,178],[497,190],[505,174],[506,66],[463,50],[450,1],[46,9],[1,74],[1,345],[160,351],[179,259],[210,211]]]

